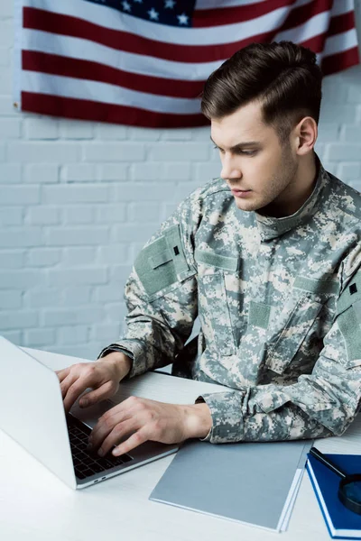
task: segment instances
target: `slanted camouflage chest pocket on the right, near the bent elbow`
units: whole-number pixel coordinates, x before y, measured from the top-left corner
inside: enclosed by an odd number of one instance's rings
[[[276,326],[279,332],[267,352],[265,363],[281,374],[298,352],[303,340],[314,325],[331,293],[336,293],[334,282],[299,277],[283,307]]]

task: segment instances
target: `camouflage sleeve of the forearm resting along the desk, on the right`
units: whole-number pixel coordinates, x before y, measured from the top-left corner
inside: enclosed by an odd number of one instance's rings
[[[311,374],[292,385],[205,394],[212,443],[341,436],[361,398],[361,269],[340,277],[333,324]]]

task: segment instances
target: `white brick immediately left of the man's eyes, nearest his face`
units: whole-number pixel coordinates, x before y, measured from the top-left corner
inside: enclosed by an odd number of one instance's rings
[[[148,143],[149,160],[189,161],[208,160],[209,145],[202,142],[157,142]]]

